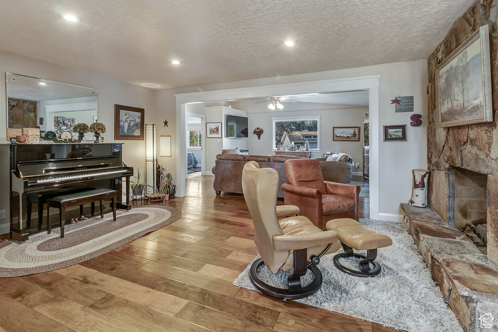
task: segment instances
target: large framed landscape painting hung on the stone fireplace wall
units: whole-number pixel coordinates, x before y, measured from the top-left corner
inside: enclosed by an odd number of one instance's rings
[[[481,26],[436,67],[438,127],[493,120],[489,36]]]

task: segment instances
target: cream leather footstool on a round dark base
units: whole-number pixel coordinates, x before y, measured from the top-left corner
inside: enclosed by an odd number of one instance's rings
[[[344,253],[334,256],[335,267],[357,277],[373,277],[380,273],[380,264],[375,262],[377,249],[392,244],[389,236],[374,232],[360,222],[349,218],[328,221],[326,227],[327,230],[335,230],[339,234],[339,240],[344,249]],[[367,256],[354,253],[353,249],[367,250]],[[339,259],[343,257],[361,258],[360,271],[342,265]],[[371,263],[373,268],[370,268]]]

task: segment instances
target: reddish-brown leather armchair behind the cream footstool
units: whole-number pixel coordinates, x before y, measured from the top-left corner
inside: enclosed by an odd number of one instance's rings
[[[300,215],[320,229],[338,218],[359,219],[360,186],[323,180],[318,160],[285,161],[287,184],[282,184],[285,205],[299,207]]]

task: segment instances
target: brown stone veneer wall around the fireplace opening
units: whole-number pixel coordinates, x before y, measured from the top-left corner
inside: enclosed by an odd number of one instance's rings
[[[488,24],[490,29],[491,79],[493,100],[493,121],[449,128],[436,128],[436,66],[453,52],[473,31]],[[459,17],[441,44],[427,60],[429,69],[427,128],[427,164],[431,170],[429,205],[433,211],[448,222],[449,206],[448,167],[457,166],[479,173],[488,174],[488,201],[490,190],[498,190],[498,2],[478,0]],[[495,196],[495,195],[491,195]],[[488,207],[488,246],[490,236],[495,248],[488,251],[490,258],[498,265],[498,222],[490,224],[490,217],[498,219],[498,201]],[[490,228],[492,234],[490,235]],[[488,248],[490,249],[490,248]]]

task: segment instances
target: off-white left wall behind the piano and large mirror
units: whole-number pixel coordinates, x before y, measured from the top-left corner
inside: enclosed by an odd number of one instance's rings
[[[103,122],[107,127],[107,132],[103,134],[106,142],[115,142],[114,104],[144,108],[146,123],[152,123],[153,119],[158,118],[152,116],[158,112],[154,110],[154,91],[151,89],[0,51],[0,77],[5,78],[5,72],[98,89],[99,121]],[[0,142],[6,142],[6,97],[4,79],[0,80],[0,92]],[[174,109],[174,97],[172,98],[172,101],[172,109]],[[171,104],[168,105],[169,107],[171,106]],[[173,120],[171,123],[174,123],[174,118],[171,120]],[[155,121],[154,123],[162,124],[162,121],[164,121],[164,118],[160,122]],[[172,134],[176,134],[176,132]],[[145,168],[144,141],[126,140],[120,142],[124,142],[124,162],[135,168],[135,174],[137,169],[140,169],[140,172],[143,173]],[[8,167],[0,168],[0,185],[3,188],[8,188],[7,172]],[[9,210],[8,194],[8,190],[0,191],[0,210],[5,209],[7,212]],[[8,218],[0,221],[0,227],[1,224],[4,223],[8,223]]]

